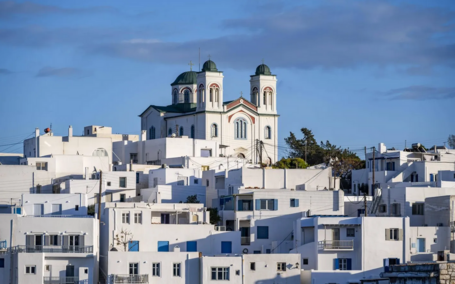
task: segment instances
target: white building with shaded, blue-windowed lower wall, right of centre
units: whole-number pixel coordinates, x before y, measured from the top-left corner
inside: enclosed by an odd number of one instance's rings
[[[295,220],[344,214],[342,191],[244,189],[220,198],[226,230],[240,231],[244,253],[288,253]]]

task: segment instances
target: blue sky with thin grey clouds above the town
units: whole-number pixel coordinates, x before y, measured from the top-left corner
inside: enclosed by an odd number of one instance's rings
[[[262,59],[277,74],[282,145],[302,127],[351,149],[455,134],[451,0],[0,1],[0,145],[51,123],[138,134],[199,48],[225,100],[248,93]]]

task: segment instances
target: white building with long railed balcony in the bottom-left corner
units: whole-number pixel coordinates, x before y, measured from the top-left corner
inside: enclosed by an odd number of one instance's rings
[[[22,214],[0,214],[0,243],[6,244],[0,252],[0,279],[97,283],[98,222],[84,215],[85,197],[28,194],[23,200]]]

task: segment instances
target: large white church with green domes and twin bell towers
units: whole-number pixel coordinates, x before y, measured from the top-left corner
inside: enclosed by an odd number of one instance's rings
[[[275,163],[278,159],[276,75],[261,64],[250,76],[250,100],[224,101],[223,72],[208,60],[171,84],[167,106],[150,105],[141,117],[147,140],[188,136],[215,140],[220,156]]]

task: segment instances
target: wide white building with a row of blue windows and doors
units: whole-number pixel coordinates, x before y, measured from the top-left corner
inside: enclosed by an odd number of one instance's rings
[[[101,255],[109,254],[109,258],[101,258],[100,265],[108,278],[125,274],[129,268],[123,262],[123,271],[118,270],[111,263],[119,258],[139,263],[150,261],[156,253],[165,256],[178,252],[169,261],[179,262],[194,257],[194,252],[219,255],[241,251],[240,232],[221,231],[210,225],[209,212],[202,204],[105,203],[102,222],[105,225],[101,228],[104,240]],[[117,256],[117,252],[126,252],[128,256]],[[146,270],[139,274],[149,273]]]

